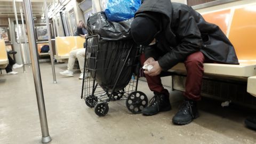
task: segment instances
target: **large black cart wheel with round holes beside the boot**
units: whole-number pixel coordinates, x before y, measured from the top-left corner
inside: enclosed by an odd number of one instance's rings
[[[134,91],[126,99],[126,107],[133,114],[140,114],[141,110],[148,106],[148,98],[145,93]]]

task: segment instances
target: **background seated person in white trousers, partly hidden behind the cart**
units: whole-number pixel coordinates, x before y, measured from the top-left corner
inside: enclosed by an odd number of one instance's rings
[[[82,36],[86,37],[87,31],[85,29],[85,25],[83,21],[79,21],[77,25],[77,30],[75,32],[74,36]],[[81,70],[81,74],[79,76],[79,79],[83,79],[83,72],[84,72],[84,59],[85,59],[85,49],[74,49],[70,51],[69,58],[68,58],[68,69],[65,71],[60,72],[61,75],[65,76],[73,76],[73,68],[75,65],[75,60],[78,60],[79,68]],[[89,73],[85,74],[85,78],[89,77]]]

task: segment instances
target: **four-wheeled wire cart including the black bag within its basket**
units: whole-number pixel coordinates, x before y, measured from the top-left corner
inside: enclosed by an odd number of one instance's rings
[[[105,116],[109,102],[115,100],[126,100],[133,114],[147,107],[146,94],[137,91],[140,52],[141,47],[132,41],[100,41],[99,35],[86,38],[81,99],[94,107],[95,114]]]

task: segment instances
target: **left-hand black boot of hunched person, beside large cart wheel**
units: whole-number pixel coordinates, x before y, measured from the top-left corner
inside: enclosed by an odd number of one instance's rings
[[[150,105],[148,107],[142,109],[142,114],[152,116],[157,114],[159,111],[171,110],[169,95],[155,94],[154,97],[150,99],[149,103]]]

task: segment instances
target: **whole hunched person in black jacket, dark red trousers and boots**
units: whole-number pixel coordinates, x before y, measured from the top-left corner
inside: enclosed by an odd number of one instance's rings
[[[179,62],[185,63],[185,101],[172,119],[174,124],[188,124],[199,116],[196,102],[201,99],[204,62],[238,64],[234,47],[220,28],[185,4],[145,0],[135,13],[131,34],[137,44],[145,46],[141,63],[154,66],[144,72],[155,95],[142,114],[155,115],[171,109],[169,92],[160,74]],[[151,43],[153,40],[155,43]]]

